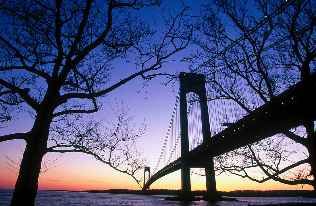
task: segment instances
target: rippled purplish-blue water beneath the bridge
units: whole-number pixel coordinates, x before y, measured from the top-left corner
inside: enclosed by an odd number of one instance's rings
[[[0,189],[0,205],[9,205],[13,190]],[[285,202],[316,202],[316,198],[308,197],[235,197],[239,202],[208,201],[168,201],[161,195],[124,195],[101,194],[87,192],[62,192],[39,190],[35,205],[37,206],[246,206],[274,204]]]

